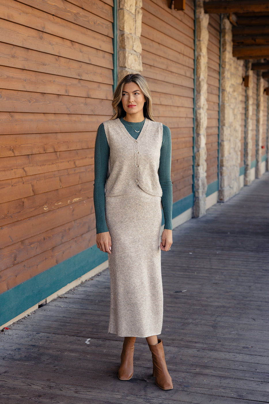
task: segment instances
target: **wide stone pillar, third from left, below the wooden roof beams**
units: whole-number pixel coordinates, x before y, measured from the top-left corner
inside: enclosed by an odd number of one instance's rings
[[[221,128],[219,201],[225,202],[240,189],[241,85],[243,61],[233,57],[231,23],[222,18],[221,30]]]

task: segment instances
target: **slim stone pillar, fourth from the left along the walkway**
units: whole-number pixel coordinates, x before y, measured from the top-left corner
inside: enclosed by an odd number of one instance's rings
[[[245,185],[251,184],[251,154],[252,154],[252,105],[253,105],[253,70],[251,62],[247,62],[246,76],[249,77],[246,88],[246,148],[245,148]]]

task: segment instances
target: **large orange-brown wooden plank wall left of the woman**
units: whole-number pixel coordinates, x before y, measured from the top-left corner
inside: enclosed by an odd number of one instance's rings
[[[113,0],[0,0],[0,293],[95,243]]]

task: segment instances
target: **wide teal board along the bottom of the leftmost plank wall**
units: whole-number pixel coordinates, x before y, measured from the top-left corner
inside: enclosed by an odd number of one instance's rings
[[[0,295],[0,325],[107,260],[96,244]]]

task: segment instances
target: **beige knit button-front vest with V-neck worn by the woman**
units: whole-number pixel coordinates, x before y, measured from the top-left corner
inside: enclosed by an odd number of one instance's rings
[[[137,140],[119,119],[104,122],[104,130],[110,148],[106,196],[123,195],[137,186],[162,196],[158,168],[163,124],[146,118]]]

